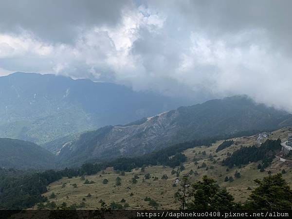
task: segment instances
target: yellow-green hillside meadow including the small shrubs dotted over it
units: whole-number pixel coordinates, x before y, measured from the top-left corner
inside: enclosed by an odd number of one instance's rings
[[[274,131],[269,135],[269,139],[263,141],[263,145],[269,144],[270,140],[275,144],[277,139],[285,140],[291,132],[292,128]],[[74,206],[77,209],[96,209],[101,207],[102,202],[109,206],[118,204],[126,209],[178,209],[180,202],[174,199],[174,195],[180,185],[174,184],[177,178],[182,181],[186,175],[189,176],[190,183],[202,180],[204,175],[210,176],[220,187],[226,188],[236,202],[245,202],[258,186],[254,180],[269,175],[283,173],[283,178],[292,186],[292,165],[280,162],[278,157],[274,157],[263,171],[258,169],[258,164],[262,164],[262,161],[233,167],[222,165],[222,160],[230,157],[241,147],[257,145],[256,139],[257,135],[232,138],[230,141],[234,144],[219,152],[216,152],[216,149],[223,141],[217,141],[212,146],[186,149],[183,151],[186,160],[175,168],[149,165],[133,168],[132,171],[124,173],[109,167],[92,176],[63,177],[51,183],[43,195],[48,198],[49,203],[54,202],[55,206],[62,206],[65,203],[66,206]],[[264,143],[266,140],[269,140],[268,143]],[[44,202],[43,206],[48,201]]]

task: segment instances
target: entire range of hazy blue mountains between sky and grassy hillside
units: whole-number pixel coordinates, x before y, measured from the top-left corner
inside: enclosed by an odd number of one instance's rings
[[[185,141],[292,126],[291,114],[247,96],[172,110],[183,101],[53,74],[0,77],[0,137],[5,137],[0,167],[77,166]]]

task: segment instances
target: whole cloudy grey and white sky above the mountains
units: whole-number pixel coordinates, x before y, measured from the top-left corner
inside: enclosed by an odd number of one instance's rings
[[[55,73],[137,91],[246,94],[292,112],[290,0],[1,0],[0,75]]]

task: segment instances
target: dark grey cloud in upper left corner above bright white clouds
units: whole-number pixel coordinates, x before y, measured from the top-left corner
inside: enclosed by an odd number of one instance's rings
[[[115,25],[129,0],[1,0],[0,32],[21,33],[54,42],[72,42],[95,25]]]

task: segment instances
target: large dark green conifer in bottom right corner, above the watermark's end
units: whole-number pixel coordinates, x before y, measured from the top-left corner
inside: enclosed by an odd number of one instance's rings
[[[282,174],[270,175],[255,180],[258,187],[253,190],[245,207],[256,210],[291,210],[292,190]]]

